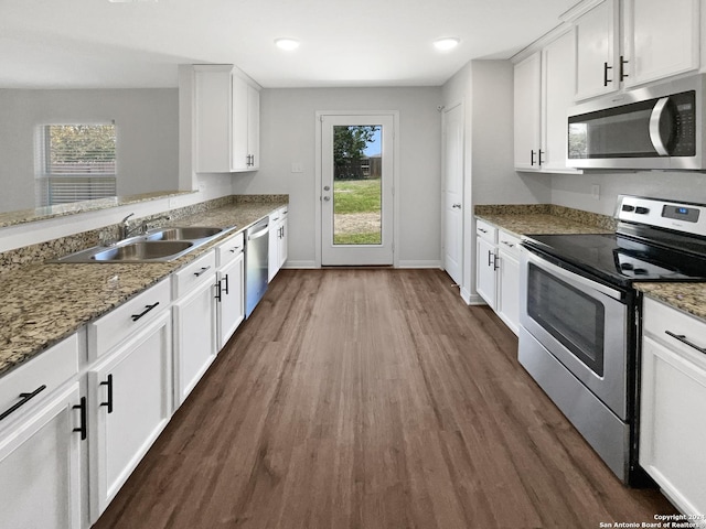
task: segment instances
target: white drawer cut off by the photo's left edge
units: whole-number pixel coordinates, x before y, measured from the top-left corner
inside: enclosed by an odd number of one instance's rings
[[[0,414],[6,415],[0,429],[78,374],[78,335],[73,334],[0,378]]]

